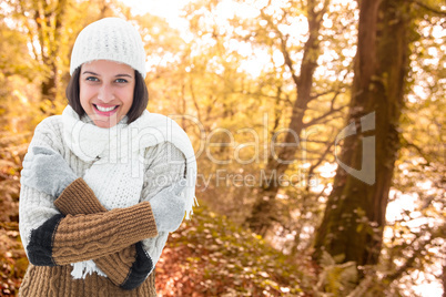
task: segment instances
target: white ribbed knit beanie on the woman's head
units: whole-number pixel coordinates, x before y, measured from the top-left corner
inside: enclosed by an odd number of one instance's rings
[[[87,25],[71,53],[70,74],[85,62],[110,60],[124,63],[145,78],[145,51],[138,30],[119,18],[105,18]]]

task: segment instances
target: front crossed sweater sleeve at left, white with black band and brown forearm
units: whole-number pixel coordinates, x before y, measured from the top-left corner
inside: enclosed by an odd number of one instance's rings
[[[50,147],[67,154],[61,121],[53,116],[38,125],[30,147]],[[107,213],[64,216],[54,198],[26,185],[20,191],[20,234],[36,265],[64,265],[102,257],[158,235],[150,203]]]

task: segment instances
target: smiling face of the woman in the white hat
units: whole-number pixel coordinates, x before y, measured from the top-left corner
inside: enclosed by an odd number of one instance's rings
[[[100,127],[112,127],[133,103],[134,70],[122,63],[98,60],[84,63],[79,76],[81,106]]]

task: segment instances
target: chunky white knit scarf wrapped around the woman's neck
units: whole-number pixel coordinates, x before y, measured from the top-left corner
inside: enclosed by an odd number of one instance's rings
[[[192,206],[197,205],[195,154],[186,133],[173,120],[148,111],[130,124],[124,117],[110,129],[82,120],[68,105],[62,113],[63,139],[79,158],[93,162],[83,180],[107,209],[129,207],[140,202],[145,148],[171,142],[186,157],[186,187],[182,195],[186,199],[186,218],[190,218]],[[74,278],[84,278],[92,272],[105,276],[92,260],[72,265]]]

